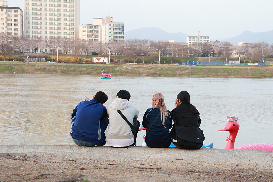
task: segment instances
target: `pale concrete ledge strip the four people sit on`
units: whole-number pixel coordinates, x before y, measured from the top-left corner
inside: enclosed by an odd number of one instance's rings
[[[27,156],[71,156],[97,159],[191,159],[207,161],[273,163],[273,151],[199,149],[185,150],[175,147],[155,149],[149,147],[113,148],[110,146],[58,146],[58,145],[0,145],[0,153],[25,153]]]

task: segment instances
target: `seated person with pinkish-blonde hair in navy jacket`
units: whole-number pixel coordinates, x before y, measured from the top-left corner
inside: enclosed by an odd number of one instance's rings
[[[152,107],[143,116],[146,129],[145,142],[151,148],[167,148],[172,143],[169,130],[172,128],[172,113],[167,110],[163,94],[153,95]]]

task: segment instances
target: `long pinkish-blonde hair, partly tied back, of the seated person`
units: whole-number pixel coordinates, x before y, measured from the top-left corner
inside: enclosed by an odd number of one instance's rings
[[[156,93],[156,94],[153,95],[152,107],[160,109],[161,122],[162,122],[164,128],[166,128],[165,121],[166,121],[169,113],[167,111],[167,107],[166,107],[165,102],[164,102],[163,94]]]

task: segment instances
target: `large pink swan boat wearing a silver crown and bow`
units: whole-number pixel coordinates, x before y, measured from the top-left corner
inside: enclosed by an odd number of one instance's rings
[[[238,133],[240,125],[238,123],[238,117],[228,117],[227,116],[227,123],[224,129],[220,129],[219,131],[229,131],[229,137],[227,137],[227,145],[225,149],[234,149],[235,139]],[[273,145],[270,143],[251,143],[248,145],[243,145],[237,147],[235,149],[238,150],[263,150],[263,151],[273,151]]]

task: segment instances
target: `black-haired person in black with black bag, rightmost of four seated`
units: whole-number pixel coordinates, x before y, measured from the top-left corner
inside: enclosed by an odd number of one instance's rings
[[[173,144],[177,148],[200,149],[202,147],[204,135],[199,128],[202,121],[199,114],[196,107],[190,104],[190,94],[187,91],[181,91],[177,95],[175,108],[172,110],[174,127],[170,132]]]

